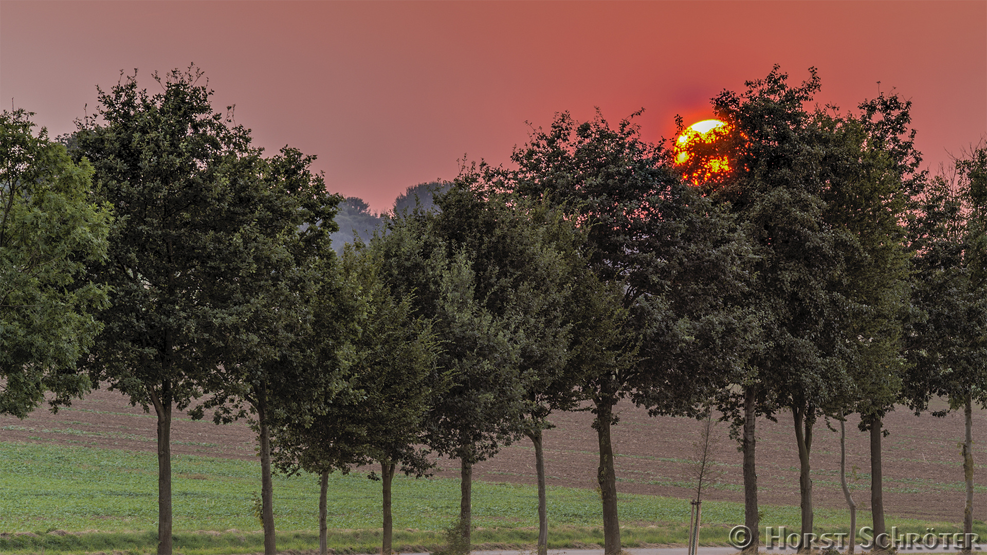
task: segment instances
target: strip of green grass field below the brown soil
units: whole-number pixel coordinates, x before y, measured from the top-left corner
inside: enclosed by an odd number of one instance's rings
[[[176,455],[172,462],[174,535],[182,553],[247,553],[263,549],[254,500],[260,464]],[[279,549],[318,546],[317,478],[274,477]],[[380,483],[362,475],[331,475],[330,545],[338,552],[379,549]],[[534,487],[478,482],[473,486],[474,543],[497,548],[535,542],[538,516]],[[550,487],[548,510],[553,548],[602,543],[599,496],[593,490]],[[797,507],[763,507],[762,523],[797,530]],[[689,502],[655,496],[619,496],[622,539],[627,546],[686,541]],[[157,458],[151,452],[0,442],[0,551],[80,553],[153,552],[157,530]],[[442,543],[442,531],[459,512],[459,482],[398,476],[394,481],[395,545],[426,550]],[[727,530],[743,521],[743,505],[704,502],[706,543],[724,544]],[[870,515],[858,515],[862,524]],[[821,531],[846,531],[846,511],[815,513]],[[889,518],[901,531],[956,529],[942,522]],[[982,527],[982,526],[980,526]],[[83,534],[61,532],[86,532]],[[987,529],[979,531],[987,537]],[[38,537],[33,537],[38,536]]]

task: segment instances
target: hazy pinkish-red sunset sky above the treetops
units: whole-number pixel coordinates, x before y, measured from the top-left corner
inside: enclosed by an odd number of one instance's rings
[[[894,92],[935,171],[987,140],[987,1],[88,2],[0,0],[0,108],[51,136],[93,114],[97,85],[194,62],[255,144],[315,154],[330,191],[390,208],[463,161],[509,165],[568,111],[646,140],[710,98],[818,68],[820,105]],[[879,82],[879,84],[878,84]],[[87,108],[88,105],[88,108]]]

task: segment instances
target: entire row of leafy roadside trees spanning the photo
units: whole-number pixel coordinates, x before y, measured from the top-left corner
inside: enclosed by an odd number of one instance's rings
[[[313,157],[251,146],[193,67],[154,77],[155,95],[136,75],[100,90],[64,146],[4,113],[0,409],[23,418],[45,391],[57,407],[99,383],[153,407],[159,553],[172,550],[171,415],[193,403],[259,433],[267,553],[272,464],[321,475],[323,532],[328,473],[379,464],[388,553],[391,480],[427,473],[430,453],[460,460],[452,549],[468,550],[472,467],[522,436],[544,553],[542,432],[553,411],[586,407],[604,549],[619,553],[610,430],[625,398],[653,415],[716,408],[742,431],[756,550],[759,417],[795,417],[810,532],[813,428],[860,414],[880,533],[881,420],[946,396],[967,415],[969,531],[987,151],[930,179],[897,96],[807,110],[814,70],[792,87],[776,67],[714,99],[721,140],[684,167],[633,118],[562,114],[511,169],[466,167],[434,209],[396,209],[376,234],[360,226],[379,216],[346,199],[344,224],[369,237],[338,256],[342,198]],[[711,158],[731,171],[703,171]]]

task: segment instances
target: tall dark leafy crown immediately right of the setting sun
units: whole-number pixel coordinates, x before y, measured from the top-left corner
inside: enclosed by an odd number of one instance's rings
[[[730,202],[757,255],[747,303],[762,332],[745,381],[758,388],[759,412],[793,408],[811,423],[850,388],[844,254],[857,246],[827,218],[830,119],[803,109],[819,89],[818,76],[811,70],[797,87],[787,79],[776,66],[744,93],[714,99],[741,169],[714,196]],[[742,395],[734,401],[728,412],[742,405]]]

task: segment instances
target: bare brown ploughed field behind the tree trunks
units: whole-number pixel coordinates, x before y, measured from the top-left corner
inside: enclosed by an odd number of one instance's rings
[[[937,406],[942,408],[942,405]],[[617,487],[626,493],[689,498],[687,460],[699,438],[700,424],[682,418],[650,418],[630,404],[618,406],[620,423],[613,429],[617,453]],[[973,416],[975,481],[983,483],[979,469],[987,458],[987,412]],[[561,413],[551,419],[557,428],[545,434],[546,473],[550,486],[596,487],[598,450],[592,415]],[[24,421],[0,417],[0,440],[93,445],[153,453],[156,419],[140,407],[131,407],[118,393],[97,390],[57,415],[39,409]],[[887,515],[917,516],[960,522],[963,513],[963,474],[958,442],[963,436],[962,415],[915,417],[899,408],[885,420],[890,435],[884,438],[884,507]],[[838,430],[838,424],[837,424]],[[717,429],[720,483],[706,499],[743,501],[743,477],[736,442],[727,427]],[[256,436],[245,423],[216,426],[193,422],[176,412],[172,432],[173,452],[253,459]],[[856,467],[854,499],[870,508],[869,436],[847,424],[847,467]],[[798,458],[791,415],[779,415],[777,423],[758,421],[759,501],[770,505],[798,505]],[[845,508],[839,485],[839,434],[820,422],[815,429],[811,461],[813,500],[817,507]],[[534,449],[523,439],[503,449],[492,460],[478,464],[474,477],[491,482],[533,484]],[[440,460],[437,476],[458,478],[456,460]],[[974,518],[987,516],[987,488],[976,488]],[[867,523],[867,522],[864,522]]]

